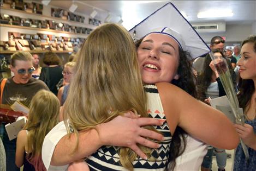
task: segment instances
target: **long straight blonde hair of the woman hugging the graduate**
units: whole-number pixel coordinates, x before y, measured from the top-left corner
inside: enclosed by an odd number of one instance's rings
[[[132,37],[117,24],[98,27],[77,56],[63,110],[67,131],[70,134],[71,127],[76,135],[74,152],[78,148],[79,130],[95,128],[129,110],[147,117],[146,106]],[[141,149],[150,155],[150,149]],[[122,166],[133,170],[134,151],[122,147],[119,154]]]

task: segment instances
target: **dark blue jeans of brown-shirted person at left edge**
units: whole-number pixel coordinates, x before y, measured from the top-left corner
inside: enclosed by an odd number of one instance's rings
[[[5,128],[2,127],[1,129],[3,130],[3,144],[4,144],[4,149],[5,149],[5,154],[6,154],[6,170],[10,171],[20,171],[20,168],[16,166],[15,164],[15,152],[16,152],[16,140],[9,140],[9,137],[7,135],[7,132]]]

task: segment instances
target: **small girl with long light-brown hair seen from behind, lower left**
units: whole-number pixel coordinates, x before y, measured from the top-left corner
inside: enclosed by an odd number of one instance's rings
[[[32,98],[28,121],[17,135],[15,164],[23,171],[46,170],[41,148],[46,134],[58,123],[59,100],[50,91],[40,90]]]

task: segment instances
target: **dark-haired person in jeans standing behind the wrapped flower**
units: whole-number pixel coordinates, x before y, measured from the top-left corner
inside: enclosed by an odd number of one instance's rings
[[[218,57],[216,57],[216,59],[221,60],[222,58],[224,58],[224,54],[219,49],[213,49],[212,53],[214,56]],[[231,66],[229,66],[229,69],[230,71],[232,71]],[[215,68],[209,54],[207,54],[205,57],[203,72],[198,76],[197,84],[199,99],[208,105],[210,105],[210,99],[226,95],[217,69]],[[216,141],[218,141],[218,138],[216,139]],[[225,170],[227,153],[225,153],[224,149],[218,149],[210,145],[201,166],[202,171],[211,170],[213,150],[216,154],[218,170]]]

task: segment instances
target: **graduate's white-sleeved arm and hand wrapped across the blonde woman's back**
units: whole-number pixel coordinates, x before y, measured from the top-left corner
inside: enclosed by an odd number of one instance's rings
[[[108,123],[97,125],[96,129],[80,131],[79,146],[75,153],[72,153],[76,142],[75,135],[71,134],[69,138],[66,128],[64,124],[62,124],[63,122],[59,123],[46,135],[44,140],[42,157],[46,169],[49,167],[50,163],[53,166],[63,166],[80,160],[93,154],[98,148],[102,147],[102,145],[129,147],[133,149],[136,154],[145,158],[146,155],[142,153],[137,143],[150,148],[158,148],[157,143],[147,140],[146,137],[161,141],[163,140],[163,135],[141,128],[141,126],[162,125],[164,120],[133,118],[133,116],[129,115],[131,114],[126,113],[126,116],[132,118],[118,116]],[[57,129],[58,126],[62,128]],[[61,137],[58,138],[59,136]],[[52,154],[49,153],[49,151],[52,151]]]

